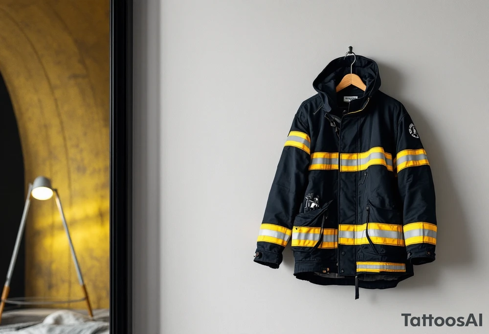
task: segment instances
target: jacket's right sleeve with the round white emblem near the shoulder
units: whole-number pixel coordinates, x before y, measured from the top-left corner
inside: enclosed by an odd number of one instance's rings
[[[407,111],[398,124],[398,186],[403,201],[403,230],[407,260],[421,265],[435,260],[435,189],[428,157]]]

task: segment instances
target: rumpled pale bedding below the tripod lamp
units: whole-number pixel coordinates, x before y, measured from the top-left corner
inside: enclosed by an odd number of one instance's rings
[[[1,334],[109,334],[109,323],[91,320],[88,316],[59,310],[41,321],[29,321],[0,326]]]

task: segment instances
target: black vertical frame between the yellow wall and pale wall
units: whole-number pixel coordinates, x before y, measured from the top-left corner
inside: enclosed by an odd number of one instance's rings
[[[133,333],[133,0],[110,4],[110,332]]]

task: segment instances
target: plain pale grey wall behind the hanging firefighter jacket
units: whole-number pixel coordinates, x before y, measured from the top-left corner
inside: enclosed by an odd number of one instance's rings
[[[413,333],[400,313],[489,326],[489,1],[134,0],[135,333]],[[391,290],[253,263],[312,80],[348,45],[413,117],[437,194],[433,264]],[[431,327],[417,333],[483,333]]]

